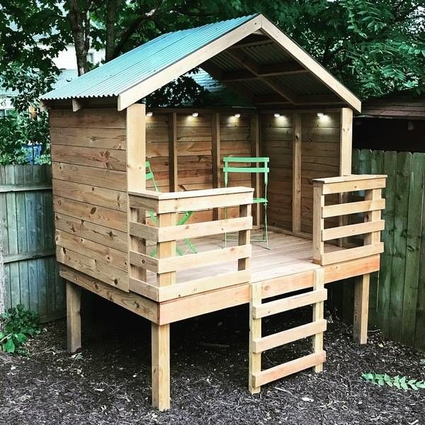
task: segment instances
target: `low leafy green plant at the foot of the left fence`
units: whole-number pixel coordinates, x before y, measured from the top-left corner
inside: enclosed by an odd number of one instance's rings
[[[21,304],[1,314],[0,323],[3,329],[0,331],[0,346],[6,353],[25,354],[22,345],[28,338],[40,334],[38,315]]]

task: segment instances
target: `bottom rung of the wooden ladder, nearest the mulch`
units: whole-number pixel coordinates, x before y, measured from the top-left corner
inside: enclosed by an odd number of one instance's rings
[[[309,354],[308,356],[288,361],[288,363],[262,370],[260,373],[253,375],[252,385],[254,387],[261,387],[261,385],[268,384],[268,382],[272,382],[273,380],[278,380],[285,376],[292,375],[293,373],[300,372],[301,370],[324,363],[325,360],[326,351],[319,351],[318,353]]]

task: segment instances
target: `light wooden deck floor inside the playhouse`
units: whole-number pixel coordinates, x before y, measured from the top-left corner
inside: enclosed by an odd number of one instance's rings
[[[312,240],[302,237],[295,237],[288,234],[277,232],[269,232],[269,246],[266,249],[266,242],[256,242],[254,237],[258,236],[258,232],[253,232],[252,256],[250,262],[251,282],[277,278],[293,273],[319,268],[312,263]],[[222,235],[217,237],[204,237],[192,240],[198,251],[210,251],[224,247]],[[227,246],[237,244],[236,241],[227,242]],[[186,247],[179,243],[181,249]],[[327,244],[326,250],[332,251],[337,249],[336,246]],[[237,271],[237,261],[229,261],[227,263],[219,263],[213,266],[204,266],[191,268],[176,273],[177,283],[187,280],[203,278],[206,276],[215,276],[221,273]],[[148,281],[152,282],[154,273],[149,273]]]

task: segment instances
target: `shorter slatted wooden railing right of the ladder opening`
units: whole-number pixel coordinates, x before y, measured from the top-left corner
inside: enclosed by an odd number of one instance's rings
[[[385,222],[381,210],[385,208],[382,188],[385,175],[356,175],[315,179],[313,193],[313,262],[322,266],[380,254],[384,244],[380,232]],[[351,192],[364,191],[364,200],[346,202]],[[327,195],[339,195],[340,203],[328,205]],[[348,215],[364,213],[364,222],[348,225]],[[338,227],[325,228],[325,220],[339,217]],[[363,246],[325,251],[325,242],[339,239],[340,245],[348,237],[363,234]]]

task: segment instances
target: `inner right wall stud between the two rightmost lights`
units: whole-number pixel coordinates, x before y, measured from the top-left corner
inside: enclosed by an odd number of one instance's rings
[[[293,232],[301,232],[301,152],[302,120],[294,113],[293,120]]]

